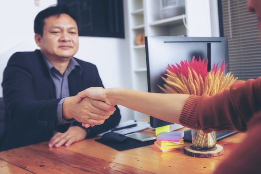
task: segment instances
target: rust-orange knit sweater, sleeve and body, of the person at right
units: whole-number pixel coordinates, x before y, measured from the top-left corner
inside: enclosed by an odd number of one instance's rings
[[[261,78],[237,81],[214,96],[191,95],[180,115],[186,127],[221,131],[246,131],[245,140],[217,167],[214,174],[261,173]]]

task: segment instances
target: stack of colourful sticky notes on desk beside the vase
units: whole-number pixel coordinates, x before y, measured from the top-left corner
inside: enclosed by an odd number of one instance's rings
[[[153,149],[161,152],[172,151],[183,147],[183,131],[163,132],[158,135],[157,141],[152,145]]]

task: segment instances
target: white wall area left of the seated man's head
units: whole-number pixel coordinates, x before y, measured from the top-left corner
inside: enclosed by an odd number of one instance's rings
[[[0,83],[6,63],[14,52],[32,51],[37,48],[34,42],[34,17],[40,10],[56,3],[57,0],[41,0],[40,5],[35,6],[34,0],[0,2]]]

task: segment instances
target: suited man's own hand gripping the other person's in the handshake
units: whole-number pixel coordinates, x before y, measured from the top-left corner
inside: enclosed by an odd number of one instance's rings
[[[114,113],[116,108],[103,101],[85,97],[80,103],[76,103],[76,96],[68,97],[63,103],[63,117],[74,118],[80,123],[89,125],[103,124],[105,119]]]

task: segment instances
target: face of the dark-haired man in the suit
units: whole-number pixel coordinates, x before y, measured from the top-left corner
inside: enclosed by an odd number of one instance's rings
[[[44,20],[43,36],[35,34],[35,41],[48,59],[70,60],[79,48],[77,24],[67,14],[50,16]]]

